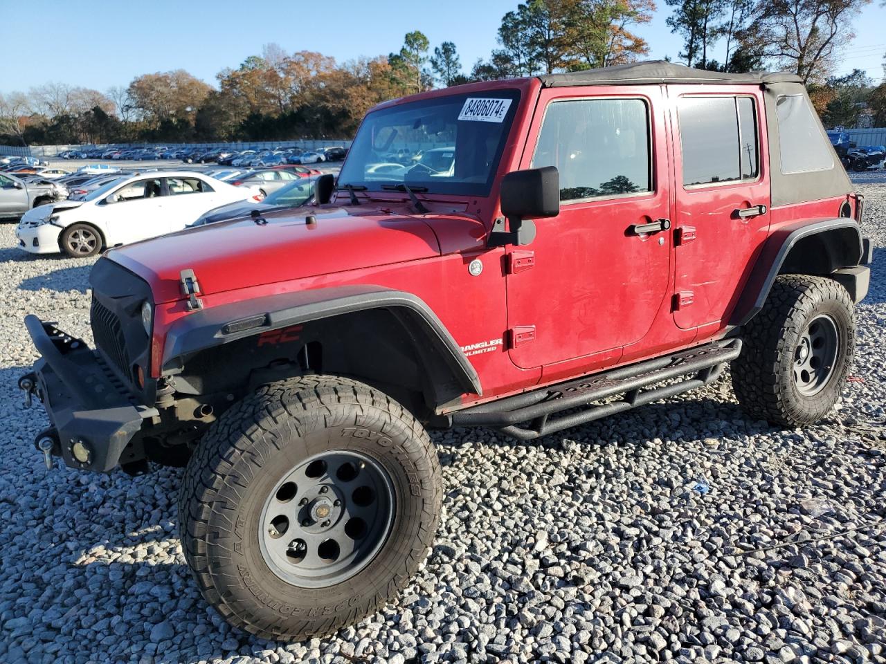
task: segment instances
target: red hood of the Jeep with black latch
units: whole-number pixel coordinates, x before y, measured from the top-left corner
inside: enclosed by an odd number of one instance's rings
[[[157,303],[182,297],[180,272],[192,269],[200,291],[210,295],[301,277],[344,272],[440,253],[437,235],[424,220],[377,209],[268,214],[163,235],[108,252],[152,286]],[[476,240],[475,240],[476,242]]]

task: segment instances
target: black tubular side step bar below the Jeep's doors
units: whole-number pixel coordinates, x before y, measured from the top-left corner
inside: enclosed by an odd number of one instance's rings
[[[737,358],[741,351],[741,339],[724,339],[664,358],[473,406],[450,417],[453,426],[494,427],[520,440],[531,440],[702,387],[716,380],[727,362]],[[683,377],[680,382],[650,387],[680,377]],[[605,404],[593,403],[616,395],[622,396]],[[581,410],[550,417],[573,408]],[[522,426],[527,423],[528,426]]]

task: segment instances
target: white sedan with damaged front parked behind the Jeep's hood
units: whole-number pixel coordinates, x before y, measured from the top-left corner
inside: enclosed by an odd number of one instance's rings
[[[192,171],[132,175],[108,182],[81,201],[35,207],[21,218],[15,235],[19,247],[31,253],[92,256],[181,230],[220,205],[259,197],[254,187],[234,187]]]

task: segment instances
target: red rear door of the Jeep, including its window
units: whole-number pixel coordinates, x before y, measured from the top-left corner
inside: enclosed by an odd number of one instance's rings
[[[769,228],[763,97],[750,86],[670,86],[676,191],[673,317],[726,324]],[[705,334],[700,330],[700,334]]]

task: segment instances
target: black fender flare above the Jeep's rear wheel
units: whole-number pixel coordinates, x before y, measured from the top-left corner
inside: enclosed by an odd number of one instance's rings
[[[782,267],[785,266],[791,250],[801,241],[809,240],[816,235],[827,236],[829,241],[836,243],[835,251],[828,257],[827,265],[816,264],[814,259],[817,257],[807,257],[806,266],[791,266],[791,272],[827,276],[842,268],[859,266],[864,250],[861,229],[856,220],[844,217],[799,220],[776,228],[766,239],[745,283],[742,296],[735,305],[729,321],[731,326],[742,326],[759,313],[766,304],[766,297],[769,297],[775,277],[782,274]]]

